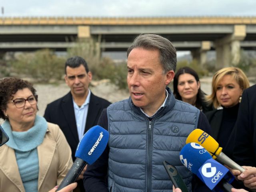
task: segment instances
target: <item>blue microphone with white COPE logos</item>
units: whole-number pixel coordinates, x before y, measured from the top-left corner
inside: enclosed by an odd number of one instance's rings
[[[222,164],[212,159],[205,148],[197,143],[188,143],[180,151],[180,160],[188,170],[214,191],[231,192],[234,176]]]

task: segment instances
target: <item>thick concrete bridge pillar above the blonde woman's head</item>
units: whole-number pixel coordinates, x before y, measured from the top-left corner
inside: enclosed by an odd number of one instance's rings
[[[217,69],[236,66],[240,61],[240,41],[246,37],[246,26],[235,25],[233,34],[216,40]]]

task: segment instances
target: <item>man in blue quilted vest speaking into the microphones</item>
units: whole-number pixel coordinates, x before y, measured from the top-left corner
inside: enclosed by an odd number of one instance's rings
[[[110,137],[84,174],[86,192],[170,192],[163,160],[176,166],[189,191],[207,191],[179,158],[190,132],[200,128],[210,134],[210,125],[168,88],[177,62],[174,46],[162,36],[141,34],[127,57],[130,97],[102,111],[98,124]]]

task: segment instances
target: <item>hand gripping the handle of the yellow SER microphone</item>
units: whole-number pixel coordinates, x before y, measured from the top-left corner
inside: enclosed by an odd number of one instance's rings
[[[238,175],[238,179],[244,182],[244,186],[256,189],[256,167],[243,166],[246,170]]]

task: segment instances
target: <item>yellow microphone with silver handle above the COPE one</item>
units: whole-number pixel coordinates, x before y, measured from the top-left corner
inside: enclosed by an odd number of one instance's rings
[[[189,134],[186,140],[186,144],[191,142],[195,142],[203,146],[211,154],[212,158],[216,159],[218,162],[221,162],[222,164],[225,164],[232,169],[239,170],[241,173],[245,171],[244,168],[226,156],[222,152],[222,147],[219,147],[218,142],[203,130],[193,130]]]

